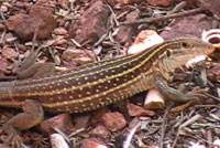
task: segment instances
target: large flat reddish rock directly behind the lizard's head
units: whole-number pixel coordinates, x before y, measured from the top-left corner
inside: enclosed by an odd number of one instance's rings
[[[205,14],[184,17],[176,19],[176,21],[172,23],[172,25],[166,27],[160,35],[166,40],[179,36],[200,38],[202,31],[211,29],[211,19],[207,18]]]

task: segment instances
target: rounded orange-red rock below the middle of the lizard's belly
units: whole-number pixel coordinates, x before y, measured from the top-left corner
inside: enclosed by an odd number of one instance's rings
[[[122,129],[127,125],[127,120],[119,112],[106,113],[101,119],[103,125],[111,131]]]

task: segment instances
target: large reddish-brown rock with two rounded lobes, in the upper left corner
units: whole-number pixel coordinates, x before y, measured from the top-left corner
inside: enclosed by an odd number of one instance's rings
[[[25,41],[32,40],[35,30],[38,29],[37,39],[44,40],[48,38],[55,29],[56,21],[51,8],[35,4],[31,8],[30,14],[10,17],[6,24],[9,30],[13,30],[19,38]]]

